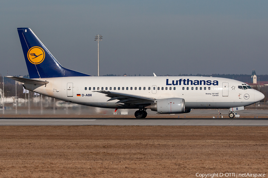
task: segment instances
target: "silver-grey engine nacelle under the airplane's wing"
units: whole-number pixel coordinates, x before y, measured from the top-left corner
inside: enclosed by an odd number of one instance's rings
[[[185,110],[185,100],[183,98],[166,98],[151,104],[151,110],[159,114],[180,114],[190,112],[191,109]]]

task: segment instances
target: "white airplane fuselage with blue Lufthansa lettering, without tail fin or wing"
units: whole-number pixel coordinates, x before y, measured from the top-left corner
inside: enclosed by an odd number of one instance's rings
[[[37,79],[40,80],[40,79]],[[104,108],[138,108],[107,101],[105,90],[157,99],[184,98],[186,109],[232,108],[258,102],[263,94],[243,88],[244,82],[219,77],[57,77],[42,78],[46,85],[24,84],[26,89],[77,104]],[[241,89],[242,86],[243,89]]]

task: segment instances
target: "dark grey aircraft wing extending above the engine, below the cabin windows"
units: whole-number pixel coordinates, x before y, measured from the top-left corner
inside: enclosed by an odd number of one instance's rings
[[[155,98],[145,97],[145,96],[138,96],[138,95],[131,95],[126,93],[117,93],[113,91],[94,91],[106,94],[107,97],[110,97],[107,101],[112,100],[119,100],[116,103],[124,103],[124,104],[135,104],[135,105],[142,105],[142,104],[152,104],[155,102]]]

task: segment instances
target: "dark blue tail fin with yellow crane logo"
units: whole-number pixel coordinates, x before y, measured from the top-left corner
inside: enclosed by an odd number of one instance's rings
[[[64,68],[30,28],[18,28],[30,78],[91,76]]]

